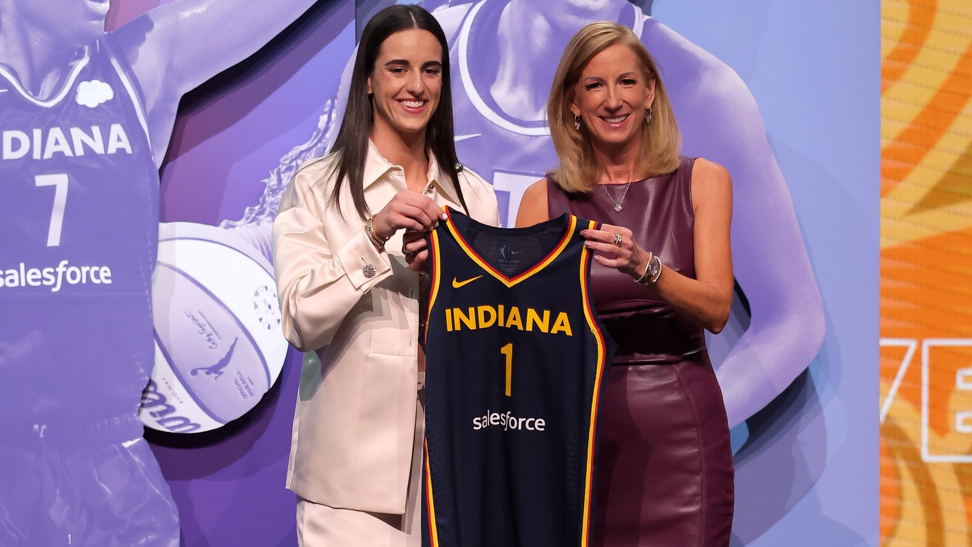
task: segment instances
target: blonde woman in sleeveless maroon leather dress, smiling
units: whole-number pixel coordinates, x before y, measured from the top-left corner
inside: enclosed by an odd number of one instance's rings
[[[617,353],[601,409],[595,545],[729,544],[733,466],[703,329],[733,295],[732,185],[680,157],[658,69],[628,27],[599,21],[568,44],[547,101],[558,167],[524,194],[517,225],[565,211],[604,222],[597,313]]]

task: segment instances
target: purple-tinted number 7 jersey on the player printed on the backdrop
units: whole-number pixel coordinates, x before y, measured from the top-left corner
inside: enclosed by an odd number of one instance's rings
[[[140,435],[155,357],[158,171],[109,39],[44,100],[0,65],[0,425],[46,438],[121,422]]]

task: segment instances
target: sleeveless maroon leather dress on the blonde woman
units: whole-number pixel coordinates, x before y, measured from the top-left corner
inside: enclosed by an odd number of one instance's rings
[[[570,211],[627,227],[666,268],[694,278],[693,165],[683,157],[676,171],[632,183],[620,212],[606,188],[569,195],[548,178],[550,218]],[[607,189],[617,201],[623,188]],[[702,327],[679,317],[652,288],[597,262],[591,284],[598,316],[617,344],[600,410],[592,545],[729,545],[729,426]]]

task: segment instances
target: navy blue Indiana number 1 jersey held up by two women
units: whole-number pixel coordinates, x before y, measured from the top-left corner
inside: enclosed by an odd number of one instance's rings
[[[428,236],[423,544],[586,546],[613,352],[579,234],[596,223],[448,213]]]

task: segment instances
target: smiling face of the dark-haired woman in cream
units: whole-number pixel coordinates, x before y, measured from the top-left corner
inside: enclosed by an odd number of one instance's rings
[[[442,90],[442,47],[420,29],[390,35],[381,45],[367,79],[373,132],[401,135],[423,132],[438,107]]]

